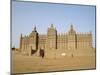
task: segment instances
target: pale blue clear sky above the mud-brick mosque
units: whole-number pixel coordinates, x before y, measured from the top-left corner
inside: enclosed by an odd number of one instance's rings
[[[95,47],[96,8],[89,5],[12,1],[12,47],[19,47],[20,35],[29,35],[34,26],[39,34],[47,34],[51,24],[57,33],[67,33],[73,24],[77,33],[92,32]]]

